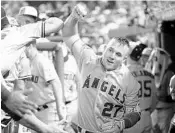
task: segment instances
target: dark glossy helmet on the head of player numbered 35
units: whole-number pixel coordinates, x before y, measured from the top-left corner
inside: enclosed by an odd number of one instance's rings
[[[141,56],[142,56],[142,51],[146,48],[147,46],[145,44],[139,44],[137,45],[131,52],[130,58],[134,61],[138,61]]]

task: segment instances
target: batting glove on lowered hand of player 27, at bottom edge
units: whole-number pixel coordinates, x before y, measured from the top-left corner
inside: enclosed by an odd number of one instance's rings
[[[113,120],[102,125],[102,130],[104,133],[120,133],[124,128],[124,120]]]

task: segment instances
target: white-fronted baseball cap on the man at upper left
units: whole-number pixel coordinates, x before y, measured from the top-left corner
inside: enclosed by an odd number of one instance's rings
[[[29,15],[29,16],[33,16],[35,18],[38,18],[38,12],[32,6],[21,7],[18,15]]]

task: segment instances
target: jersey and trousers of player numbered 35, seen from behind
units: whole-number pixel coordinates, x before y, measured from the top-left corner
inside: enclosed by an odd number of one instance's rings
[[[133,64],[128,65],[127,67],[140,83],[138,96],[142,113],[140,121],[138,121],[133,127],[124,130],[124,133],[150,133],[152,130],[150,111],[151,108],[155,108],[156,105],[154,76],[144,70],[141,65]]]

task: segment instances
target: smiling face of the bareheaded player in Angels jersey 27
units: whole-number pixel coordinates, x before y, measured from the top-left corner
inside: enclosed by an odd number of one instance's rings
[[[124,57],[127,56],[129,48],[117,41],[111,40],[103,54],[103,65],[107,70],[117,69]]]

